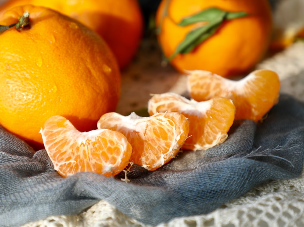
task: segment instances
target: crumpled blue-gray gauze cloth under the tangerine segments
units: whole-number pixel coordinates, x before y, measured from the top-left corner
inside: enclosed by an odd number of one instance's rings
[[[299,176],[303,143],[304,104],[281,95],[264,122],[237,121],[223,144],[180,153],[154,172],[135,165],[125,183],[92,173],[62,178],[45,150],[33,155],[0,129],[0,226],[77,214],[99,200],[150,225],[208,213],[261,182]]]

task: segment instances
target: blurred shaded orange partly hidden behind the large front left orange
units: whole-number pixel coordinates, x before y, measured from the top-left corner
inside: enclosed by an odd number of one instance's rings
[[[26,4],[52,8],[97,32],[111,48],[121,69],[136,54],[143,32],[137,0],[10,0],[0,7],[0,15],[13,6]]]

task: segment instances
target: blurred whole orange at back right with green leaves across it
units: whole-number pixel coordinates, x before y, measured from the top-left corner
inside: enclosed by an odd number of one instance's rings
[[[186,35],[213,21],[179,23],[209,8],[247,15],[224,19],[213,35],[188,53],[179,53],[171,64],[181,72],[207,70],[224,77],[250,70],[268,49],[272,33],[272,15],[268,0],[163,0],[156,15],[158,41],[169,58]],[[212,32],[211,29],[207,32]]]

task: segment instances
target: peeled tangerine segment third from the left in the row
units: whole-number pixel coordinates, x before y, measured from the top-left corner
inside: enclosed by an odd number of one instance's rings
[[[206,150],[223,143],[227,137],[235,115],[232,101],[214,97],[208,101],[196,102],[175,93],[156,94],[148,102],[148,112],[179,112],[190,123],[189,137],[183,149]]]

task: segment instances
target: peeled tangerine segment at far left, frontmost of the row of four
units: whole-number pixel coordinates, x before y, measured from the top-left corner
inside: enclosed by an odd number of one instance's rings
[[[132,153],[123,134],[108,129],[79,132],[59,115],[50,117],[40,133],[54,169],[63,177],[77,172],[114,176],[126,168]]]

